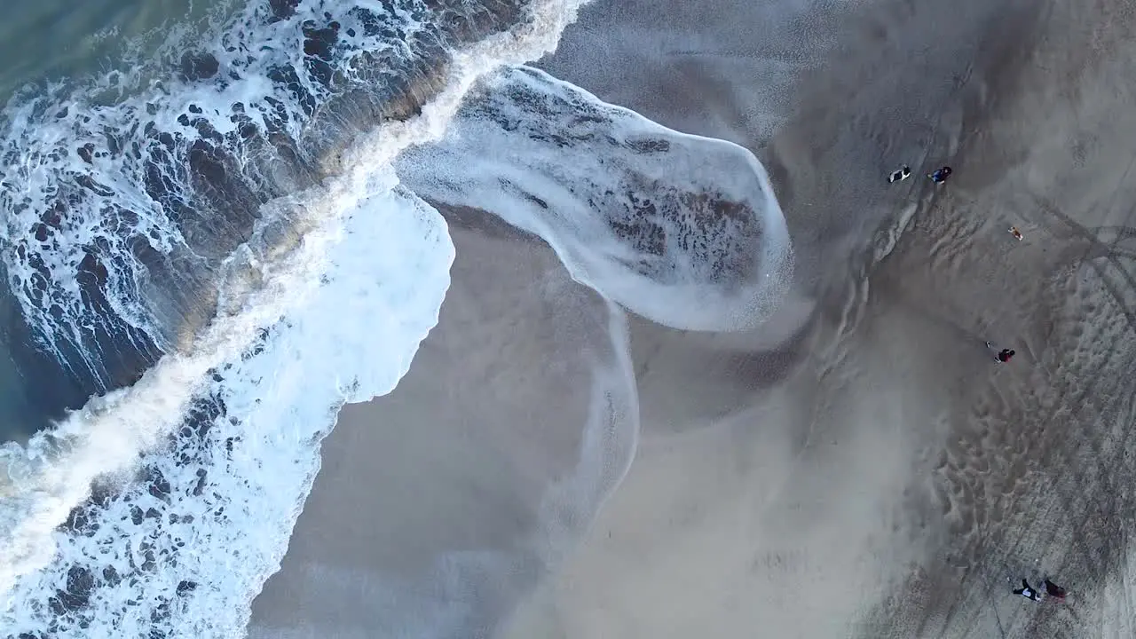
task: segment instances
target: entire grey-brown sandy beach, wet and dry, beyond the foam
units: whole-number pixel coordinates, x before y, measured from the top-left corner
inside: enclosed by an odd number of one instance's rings
[[[1136,5],[788,5],[599,0],[542,64],[758,152],[797,252],[784,313],[632,318],[640,447],[549,574],[533,513],[586,404],[558,340],[602,350],[604,310],[576,291],[592,320],[550,333],[549,287],[575,289],[548,249],[458,225],[442,321],[343,412],[254,636],[402,636],[378,575],[457,547],[513,559],[481,625],[437,636],[1134,636]],[[1067,601],[1010,595],[1045,574]]]

